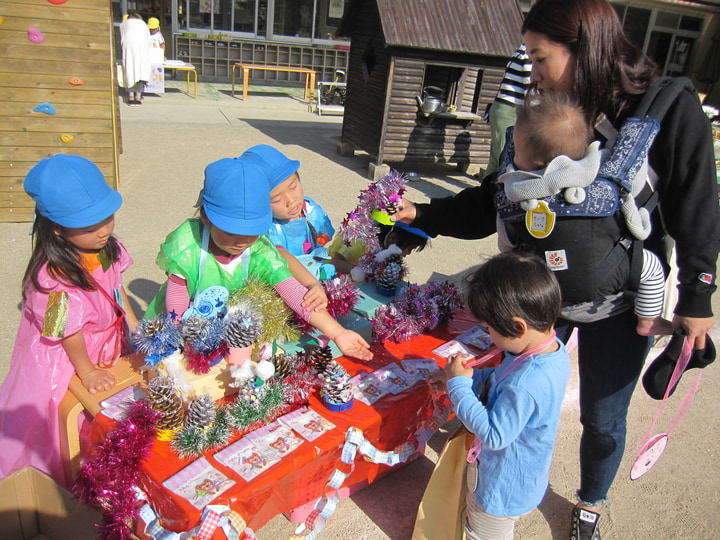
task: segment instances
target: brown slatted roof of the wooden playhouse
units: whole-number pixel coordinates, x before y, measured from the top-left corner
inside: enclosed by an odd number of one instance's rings
[[[510,56],[522,42],[516,0],[351,0],[339,28],[352,30],[366,2],[374,2],[388,46]]]

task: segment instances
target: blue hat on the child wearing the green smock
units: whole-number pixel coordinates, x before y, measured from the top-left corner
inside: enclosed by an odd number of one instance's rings
[[[223,158],[205,167],[201,201],[215,227],[229,234],[265,234],[272,223],[270,187],[250,159]]]

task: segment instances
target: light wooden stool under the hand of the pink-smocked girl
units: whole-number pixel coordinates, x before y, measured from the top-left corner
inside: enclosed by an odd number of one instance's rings
[[[115,386],[107,392],[91,394],[83,386],[77,375],[70,379],[70,386],[58,408],[60,429],[60,454],[65,467],[65,482],[72,486],[80,467],[80,433],[78,431],[78,415],[83,410],[95,416],[100,412],[100,402],[117,394],[123,388],[142,382],[140,367],[145,363],[140,354],[123,356],[108,369],[115,377]]]

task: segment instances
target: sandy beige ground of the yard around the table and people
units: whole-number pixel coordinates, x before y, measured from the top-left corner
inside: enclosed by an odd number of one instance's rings
[[[169,231],[193,214],[208,163],[237,156],[254,144],[274,145],[301,161],[306,193],[326,209],[335,224],[355,206],[359,191],[368,184],[370,158],[360,152],[355,157],[341,157],[335,151],[342,118],[308,112],[300,99],[302,91],[251,87],[243,102],[230,97],[229,84],[200,83],[198,100],[184,93],[184,82],[169,82],[168,86],[168,93],[148,96],[141,107],[121,105],[120,192],[124,204],[117,214],[116,234],[135,259],[125,284],[139,314],[163,279],[154,265],[157,249]],[[418,202],[455,193],[475,182],[444,165],[397,168],[421,174],[422,179],[410,184],[408,192],[408,197]],[[0,224],[5,276],[0,281],[0,297],[5,299],[0,307],[0,377],[7,372],[18,325],[20,282],[30,254],[28,230],[27,223]],[[459,282],[469,268],[494,252],[494,238],[475,242],[439,238],[430,249],[411,256],[409,279],[421,284],[446,278]],[[720,330],[713,335],[720,344]],[[685,377],[681,382],[678,396],[658,421],[658,430],[667,430],[679,396],[691,381],[692,377]],[[718,537],[719,382],[720,368],[711,366],[690,411],[673,432],[666,455],[646,477],[632,482],[629,471],[634,450],[657,407],[642,389],[636,392],[628,418],[627,455],[610,493],[612,502],[602,517],[605,540]],[[451,423],[430,441],[425,457],[344,500],[320,538],[409,539],[437,453],[454,427]],[[540,508],[519,522],[518,538],[567,538],[570,501],[577,487],[579,434],[574,373],[562,413],[550,489]],[[286,538],[294,528],[278,516],[258,531],[258,537]]]

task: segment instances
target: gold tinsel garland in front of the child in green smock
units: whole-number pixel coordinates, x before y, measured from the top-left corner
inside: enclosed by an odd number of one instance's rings
[[[227,305],[241,303],[252,306],[262,318],[262,332],[257,343],[288,343],[300,339],[299,329],[289,322],[292,310],[272,287],[258,278],[248,278],[240,289],[230,295]]]

